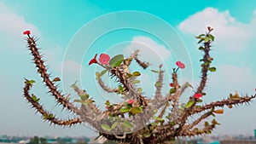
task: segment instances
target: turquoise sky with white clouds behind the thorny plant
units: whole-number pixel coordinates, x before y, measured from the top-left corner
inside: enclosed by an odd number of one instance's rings
[[[99,3],[94,1],[68,3],[61,0],[54,2],[26,0],[21,3],[0,0],[2,91],[0,134],[96,135],[84,125],[71,129],[49,126],[41,116],[34,114],[34,110],[22,97],[23,78],[35,79],[37,84],[33,92],[41,95],[44,106],[63,117],[67,116],[66,112],[60,112],[55,106],[53,97],[45,94],[47,89],[40,83],[41,79],[26,50],[25,37],[22,35],[26,29],[40,38],[39,47],[45,54],[49,71],[56,76],[62,76],[61,89],[69,93],[72,89],[68,86],[79,80],[81,86],[91,95],[102,95],[102,97],[94,97],[102,104],[104,103],[102,100],[110,99],[108,96],[113,95],[102,92],[96,86],[94,78],[90,77],[98,69],[96,66],[87,66],[88,60],[95,53],[106,52],[114,55],[120,51],[128,55],[132,49],[141,47],[142,53],[147,53],[147,55],[142,54],[142,58],[153,60],[150,61],[151,63],[155,62],[153,68],[160,60],[167,69],[172,69],[173,61],[183,60],[187,68],[180,73],[180,76],[183,76],[183,81],[196,85],[200,76],[201,53],[197,50],[198,45],[194,36],[206,32],[207,26],[212,26],[213,34],[216,35],[216,42],[212,44],[214,58],[212,65],[216,66],[218,71],[210,74],[206,89],[208,95],[204,101],[224,99],[230,92],[234,93],[236,90],[241,94],[255,93],[256,66],[253,57],[256,50],[253,42],[256,38],[256,2],[253,0],[246,2],[198,0],[173,3],[167,0],[161,2],[112,0]],[[124,10],[133,10],[137,14],[134,17],[130,15],[124,18],[117,13]],[[147,19],[148,21],[143,20],[140,14],[145,14],[146,17],[150,17],[151,14],[151,17]],[[106,17],[108,19],[104,20]],[[162,26],[164,22],[169,28],[171,27],[170,31],[164,29],[165,26]],[[90,25],[95,28],[90,28]],[[122,28],[113,32],[103,32],[104,28],[119,25],[137,26],[140,27],[138,28],[140,31]],[[143,27],[145,29],[149,27],[148,30],[154,33],[142,31]],[[165,39],[167,36],[170,36],[170,40]],[[96,38],[92,39],[94,43],[90,45],[90,49],[84,48],[85,44],[90,44],[89,39],[92,37]],[[148,46],[139,43],[147,43]],[[153,55],[161,56],[152,59],[151,52],[154,52]],[[170,78],[168,79],[168,74],[166,77],[167,86]],[[154,80],[147,81],[148,79],[154,79],[154,75],[147,71],[142,81],[147,83],[143,89],[148,89],[150,95],[149,89],[152,85],[148,85],[148,82],[154,85]],[[183,100],[188,96],[189,92],[183,96]],[[225,109],[224,115],[217,118],[221,125],[214,134],[253,135],[253,130],[256,129],[255,108],[256,103],[253,101],[250,106]]]

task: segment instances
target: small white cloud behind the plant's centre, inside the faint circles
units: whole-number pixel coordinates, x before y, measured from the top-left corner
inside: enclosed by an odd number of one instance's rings
[[[171,51],[165,46],[156,43],[150,37],[133,37],[132,42],[124,50],[125,54],[131,55],[134,50],[139,49],[143,60],[151,63],[160,63],[162,60],[171,58]],[[161,60],[162,59],[162,60]]]

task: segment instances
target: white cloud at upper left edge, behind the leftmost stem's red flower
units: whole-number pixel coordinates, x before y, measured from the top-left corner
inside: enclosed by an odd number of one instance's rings
[[[32,34],[39,34],[38,28],[27,23],[23,16],[15,14],[6,5],[0,3],[0,32],[11,36],[21,36],[24,30],[31,30]]]

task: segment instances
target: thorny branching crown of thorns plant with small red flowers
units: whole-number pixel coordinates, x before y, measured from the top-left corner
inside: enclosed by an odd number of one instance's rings
[[[96,81],[106,92],[122,95],[122,99],[124,99],[120,103],[106,101],[106,109],[103,111],[96,106],[96,101],[93,101],[86,90],[79,89],[76,84],[72,84],[71,88],[77,92],[79,99],[70,101],[69,95],[61,94],[55,84],[61,79],[49,75],[44,60],[42,60],[38,51],[35,37],[31,37],[31,32],[26,31],[23,34],[27,36],[28,49],[31,51],[33,62],[41,78],[43,78],[44,84],[48,87],[49,93],[55,97],[56,103],[72,112],[77,118],[63,120],[56,118],[54,113],[45,110],[40,103],[40,99],[36,95],[30,94],[30,89],[35,83],[34,80],[26,79],[24,96],[32,107],[42,114],[44,120],[49,121],[50,124],[62,126],[89,124],[99,132],[100,136],[112,141],[140,144],[165,143],[174,140],[178,136],[210,134],[218,125],[214,118],[215,114],[224,113],[223,107],[232,108],[234,105],[248,103],[256,96],[240,96],[236,92],[235,95],[230,94],[229,97],[221,101],[202,103],[207,95],[204,91],[207,84],[207,73],[216,71],[216,68],[211,66],[213,58],[210,51],[211,43],[214,41],[212,31],[213,29],[209,26],[205,34],[196,37],[199,39],[198,44],[201,45],[199,50],[203,53],[200,60],[201,79],[199,86],[194,88],[189,83],[183,85],[178,83],[177,71],[185,68],[185,64],[176,61],[177,67],[172,69],[170,90],[166,92],[166,95],[162,95],[165,71],[162,70],[162,65],[160,65],[158,70],[152,70],[158,75],[154,84],[155,92],[152,99],[143,95],[143,89],[137,88],[137,84],[140,83],[137,77],[141,75],[141,72],[130,72],[129,69],[132,60],[135,60],[138,66],[143,67],[143,69],[148,68],[149,63],[139,59],[139,50],[136,50],[127,58],[124,58],[124,55],[115,55],[110,58],[107,54],[101,54],[97,60],[96,54],[89,61],[89,66],[98,65],[103,68],[102,72],[96,72]],[[109,88],[103,82],[101,77],[106,73],[110,78],[117,79],[116,82],[119,86],[116,89]],[[188,88],[193,89],[195,93],[189,96],[189,100],[185,104],[180,104],[180,97],[184,90]],[[194,121],[189,120],[195,114],[199,116]],[[210,117],[211,120],[209,120]],[[199,125],[202,125],[202,127]]]

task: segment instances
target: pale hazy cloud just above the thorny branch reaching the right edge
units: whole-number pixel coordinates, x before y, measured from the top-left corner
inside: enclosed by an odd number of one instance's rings
[[[209,78],[207,89],[216,98],[226,98],[237,90],[240,94],[250,94],[256,87],[256,76],[247,66],[220,65]],[[209,93],[209,94],[210,94]]]

